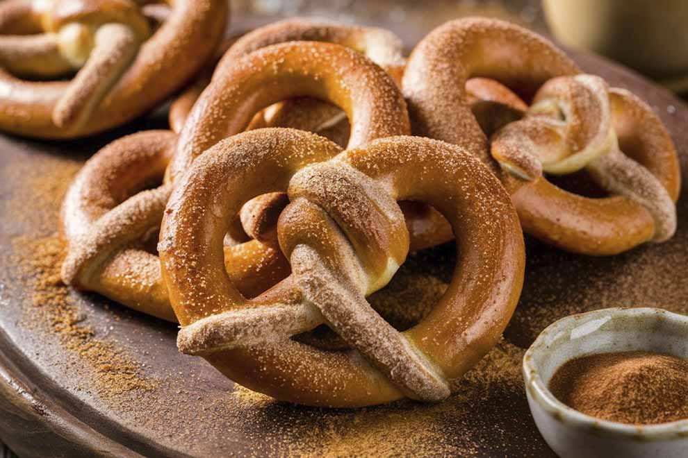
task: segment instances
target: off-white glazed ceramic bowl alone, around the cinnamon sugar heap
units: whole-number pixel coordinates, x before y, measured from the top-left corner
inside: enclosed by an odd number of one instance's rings
[[[600,420],[559,402],[548,385],[557,368],[594,353],[647,350],[688,358],[688,316],[662,309],[612,308],[561,319],[523,357],[535,424],[562,458],[688,457],[688,420],[635,426]],[[688,402],[688,387],[686,387]]]

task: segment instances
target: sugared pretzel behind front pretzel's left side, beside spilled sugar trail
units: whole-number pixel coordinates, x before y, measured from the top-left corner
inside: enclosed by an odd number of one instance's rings
[[[148,246],[157,241],[172,187],[141,190],[162,181],[176,143],[177,134],[169,130],[136,133],[106,146],[81,169],[62,209],[68,244],[62,276],[67,285],[177,321],[160,262]],[[247,297],[262,293],[289,273],[284,256],[258,241],[225,246],[224,258],[229,277]]]

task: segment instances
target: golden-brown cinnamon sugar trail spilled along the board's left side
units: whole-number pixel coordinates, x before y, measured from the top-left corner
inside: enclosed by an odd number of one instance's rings
[[[153,389],[157,382],[142,377],[140,363],[124,350],[99,339],[95,330],[83,323],[87,316],[60,278],[66,246],[56,232],[58,213],[79,167],[76,160],[51,158],[3,170],[3,178],[13,180],[20,176],[26,183],[3,202],[6,214],[13,214],[29,228],[13,238],[13,250],[8,255],[9,264],[19,276],[17,280],[25,285],[20,324],[56,335],[64,348],[79,355],[92,370],[93,388],[102,398]],[[26,203],[31,203],[31,211],[26,211]]]

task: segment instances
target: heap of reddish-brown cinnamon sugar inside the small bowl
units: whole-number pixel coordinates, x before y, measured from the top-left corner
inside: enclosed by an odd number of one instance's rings
[[[688,418],[688,360],[632,351],[566,362],[550,390],[564,404],[603,420],[653,425]]]

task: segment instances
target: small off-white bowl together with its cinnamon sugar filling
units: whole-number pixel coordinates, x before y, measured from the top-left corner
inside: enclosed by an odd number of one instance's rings
[[[523,357],[530,411],[561,457],[688,456],[688,316],[568,316]],[[668,423],[667,423],[668,422]]]

